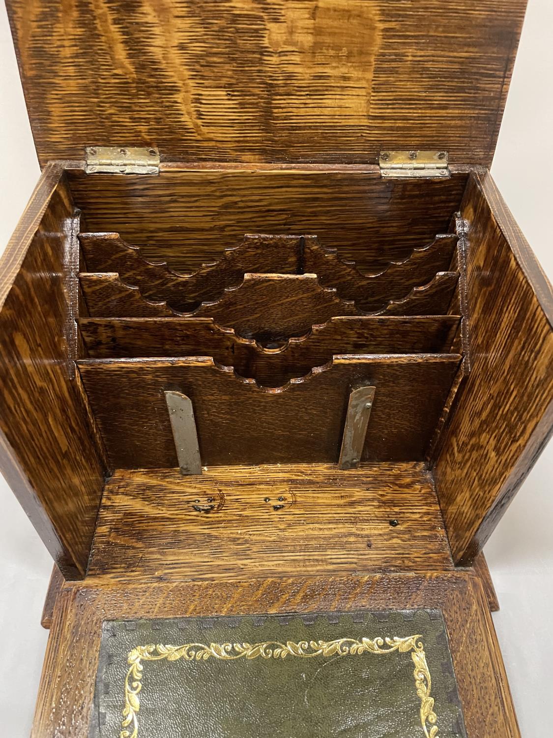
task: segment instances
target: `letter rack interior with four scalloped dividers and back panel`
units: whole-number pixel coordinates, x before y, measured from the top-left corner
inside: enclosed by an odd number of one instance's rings
[[[465,372],[466,180],[70,172],[77,364],[109,466],[184,469],[167,393],[204,468],[338,463],[363,387],[352,466],[424,461]]]

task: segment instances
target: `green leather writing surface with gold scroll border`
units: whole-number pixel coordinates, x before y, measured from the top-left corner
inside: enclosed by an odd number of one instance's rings
[[[466,738],[439,610],[106,621],[90,738]]]

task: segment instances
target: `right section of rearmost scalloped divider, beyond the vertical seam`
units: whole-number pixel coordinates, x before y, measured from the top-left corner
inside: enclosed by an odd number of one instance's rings
[[[428,283],[437,272],[450,269],[456,243],[455,234],[437,235],[428,246],[414,249],[406,260],[392,262],[378,274],[364,275],[355,262],[342,260],[337,249],[326,249],[316,236],[307,235],[303,265],[305,272],[319,277],[321,285],[334,287],[344,300],[355,300],[355,306],[370,313]]]

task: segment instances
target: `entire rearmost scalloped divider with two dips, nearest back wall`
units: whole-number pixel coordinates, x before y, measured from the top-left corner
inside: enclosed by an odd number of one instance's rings
[[[80,244],[88,272],[116,272],[125,284],[139,288],[147,300],[164,300],[179,312],[217,300],[225,289],[240,285],[247,272],[314,274],[321,286],[335,288],[338,296],[355,300],[365,312],[378,311],[389,300],[449,269],[457,237],[438,235],[431,244],[414,249],[409,257],[386,269],[362,274],[354,262],[343,261],[338,249],[327,249],[315,235],[245,235],[234,249],[226,249],[215,263],[192,275],[174,272],[165,262],[153,263],[118,233],[81,233]],[[84,271],[84,270],[83,270]]]

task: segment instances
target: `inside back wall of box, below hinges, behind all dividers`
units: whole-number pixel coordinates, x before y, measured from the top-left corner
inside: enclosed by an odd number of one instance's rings
[[[245,233],[316,234],[361,272],[408,258],[459,210],[466,173],[382,179],[369,171],[274,168],[162,170],[159,176],[69,171],[83,232],[118,232],[150,261],[188,274],[239,246]]]

